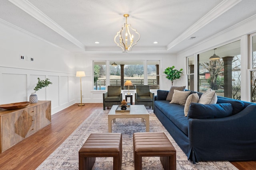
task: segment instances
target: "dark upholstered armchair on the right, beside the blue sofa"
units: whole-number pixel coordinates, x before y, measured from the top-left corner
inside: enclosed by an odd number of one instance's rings
[[[149,85],[136,86],[135,104],[150,106],[154,109],[154,93],[150,92]]]

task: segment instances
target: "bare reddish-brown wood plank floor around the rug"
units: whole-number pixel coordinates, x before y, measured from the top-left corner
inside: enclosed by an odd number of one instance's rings
[[[52,115],[52,123],[0,153],[0,170],[36,169],[102,103],[74,104]],[[255,170],[256,161],[232,162],[240,170]]]

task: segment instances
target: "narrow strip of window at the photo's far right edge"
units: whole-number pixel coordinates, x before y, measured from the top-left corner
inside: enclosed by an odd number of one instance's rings
[[[251,102],[256,103],[256,33],[250,35],[250,79],[251,79]]]

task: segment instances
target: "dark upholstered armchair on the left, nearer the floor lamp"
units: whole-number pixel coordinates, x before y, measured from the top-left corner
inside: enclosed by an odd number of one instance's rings
[[[121,104],[122,100],[121,86],[108,86],[107,92],[103,93],[103,110]]]

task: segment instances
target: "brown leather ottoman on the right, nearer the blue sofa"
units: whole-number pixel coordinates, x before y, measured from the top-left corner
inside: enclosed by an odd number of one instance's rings
[[[160,156],[164,170],[176,170],[176,150],[164,132],[133,133],[134,169],[142,170],[142,156]]]

